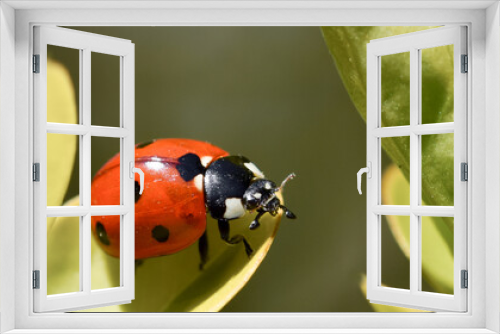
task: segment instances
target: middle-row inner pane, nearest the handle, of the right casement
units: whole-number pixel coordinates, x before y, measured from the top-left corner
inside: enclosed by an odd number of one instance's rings
[[[382,168],[384,172],[382,174],[382,204],[383,205],[410,205],[410,186],[407,179],[410,175],[410,137],[391,137],[382,138],[381,140],[383,152],[382,157]],[[398,152],[397,156],[389,157],[385,150],[390,152]],[[394,169],[390,169],[391,165],[395,164],[400,171],[407,178],[401,181],[393,181],[396,178],[393,173]],[[400,182],[395,184],[394,182]]]

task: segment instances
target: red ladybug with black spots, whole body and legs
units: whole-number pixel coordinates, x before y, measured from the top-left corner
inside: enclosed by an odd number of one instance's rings
[[[135,147],[135,167],[144,174],[144,191],[135,181],[135,259],[174,254],[198,241],[200,269],[207,261],[207,212],[218,221],[220,237],[228,244],[243,243],[250,257],[252,247],[242,235],[230,236],[229,221],[257,212],[250,224],[259,227],[266,213],[295,215],[281,204],[280,187],[264,177],[250,160],[231,156],[207,142],[192,139],[158,139]],[[120,204],[120,156],[115,155],[92,180],[92,205]],[[120,256],[120,216],[93,216],[92,232],[110,255]]]

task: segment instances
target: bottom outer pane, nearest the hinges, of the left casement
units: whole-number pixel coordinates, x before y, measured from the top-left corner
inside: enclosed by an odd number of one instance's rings
[[[80,291],[80,217],[47,218],[47,294]]]

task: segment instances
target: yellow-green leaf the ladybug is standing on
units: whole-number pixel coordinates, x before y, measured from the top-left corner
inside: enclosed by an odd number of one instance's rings
[[[74,198],[66,205],[75,205]],[[136,264],[135,300],[130,304],[91,309],[91,312],[217,312],[250,280],[264,260],[278,231],[281,215],[265,215],[261,226],[250,231],[254,215],[231,221],[231,235],[245,235],[254,249],[249,259],[243,244],[227,245],[217,222],[207,220],[209,261],[199,270],[197,243],[173,255]],[[78,289],[78,219],[57,218],[48,234],[49,291]],[[64,242],[61,242],[63,240]],[[76,242],[75,242],[76,240]],[[76,258],[76,261],[75,261]],[[119,285],[119,261],[104,252],[92,238],[92,289]]]

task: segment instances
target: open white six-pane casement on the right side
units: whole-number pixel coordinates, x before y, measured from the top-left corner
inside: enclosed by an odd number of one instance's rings
[[[460,164],[467,162],[467,76],[461,73],[461,57],[467,54],[466,28],[439,27],[410,34],[372,40],[367,45],[367,162],[372,177],[367,179],[367,298],[372,303],[401,305],[423,310],[467,310],[467,289],[461,288],[461,271],[467,269],[467,184],[461,181]],[[453,46],[454,121],[422,124],[422,50],[444,45]],[[410,105],[409,124],[382,125],[382,57],[406,52],[409,55]],[[422,205],[422,135],[453,134],[454,205]],[[409,205],[382,203],[382,140],[406,137],[410,142]],[[370,168],[370,167],[369,167]],[[407,216],[410,224],[409,289],[382,285],[382,216]],[[453,282],[452,294],[422,291],[422,217],[453,217]],[[437,257],[440,254],[436,254]]]

